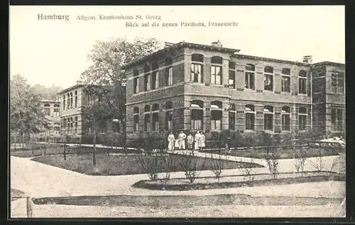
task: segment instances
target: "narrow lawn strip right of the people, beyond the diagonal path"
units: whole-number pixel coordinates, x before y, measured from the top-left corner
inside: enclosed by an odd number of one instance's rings
[[[322,148],[310,148],[310,147],[299,147],[297,150],[303,150],[306,158],[317,157],[320,154],[322,156],[329,155],[339,155],[338,153],[332,152],[332,150],[324,150]],[[218,153],[218,150],[204,150],[204,153]],[[221,150],[220,153],[226,154],[226,150]],[[278,148],[278,153],[280,159],[294,158],[293,150],[290,148]],[[238,149],[231,150],[229,155],[239,156],[239,157],[248,157],[248,158],[261,158],[265,159],[267,155],[267,150],[265,148],[258,149]]]

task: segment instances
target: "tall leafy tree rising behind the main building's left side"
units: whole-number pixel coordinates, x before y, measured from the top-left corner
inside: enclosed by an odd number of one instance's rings
[[[155,38],[126,38],[98,41],[88,55],[92,65],[82,72],[81,79],[88,92],[102,97],[105,114],[118,119],[126,137],[126,77],[122,67],[162,47]],[[89,108],[88,108],[89,109]],[[88,111],[87,111],[88,112]],[[94,112],[92,112],[94,113]],[[124,143],[126,143],[124,141]]]

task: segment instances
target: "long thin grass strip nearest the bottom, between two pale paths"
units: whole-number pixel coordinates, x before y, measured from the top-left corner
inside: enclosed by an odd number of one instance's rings
[[[271,197],[251,196],[249,194],[214,194],[214,195],[116,195],[116,196],[80,196],[46,197],[33,199],[34,204],[66,204],[91,206],[185,208],[220,205],[326,205],[340,204],[342,199],[327,197]]]

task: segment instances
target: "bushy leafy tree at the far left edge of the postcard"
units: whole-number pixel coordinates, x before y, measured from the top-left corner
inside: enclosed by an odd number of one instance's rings
[[[10,129],[19,131],[24,145],[25,135],[38,133],[49,127],[40,106],[40,96],[21,75],[10,80]]]

